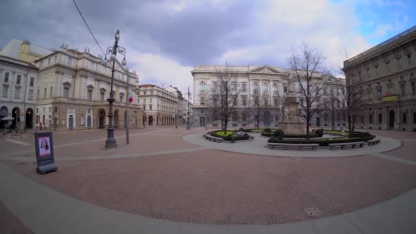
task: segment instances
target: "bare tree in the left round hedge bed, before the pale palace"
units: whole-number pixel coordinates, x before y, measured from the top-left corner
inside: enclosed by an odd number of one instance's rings
[[[221,129],[226,133],[229,120],[237,109],[240,90],[237,77],[228,63],[216,70],[216,74],[207,104],[213,113],[213,120],[221,120]]]

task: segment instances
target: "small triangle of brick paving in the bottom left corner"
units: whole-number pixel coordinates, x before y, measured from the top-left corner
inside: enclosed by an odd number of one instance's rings
[[[0,202],[0,233],[1,234],[32,234],[33,232],[16,218]]]

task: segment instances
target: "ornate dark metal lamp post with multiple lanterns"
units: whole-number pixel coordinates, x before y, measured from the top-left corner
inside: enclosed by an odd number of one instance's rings
[[[126,66],[126,49],[123,47],[118,46],[118,40],[120,40],[120,31],[117,29],[116,35],[114,35],[114,46],[108,47],[105,53],[105,58],[103,60],[103,64],[107,64],[107,55],[109,55],[109,60],[113,61],[113,68],[112,68],[112,79],[110,83],[110,91],[109,91],[109,111],[108,111],[108,120],[109,124],[107,127],[107,140],[105,140],[105,148],[117,148],[116,139],[114,139],[114,113],[113,113],[113,102],[116,100],[114,99],[113,93],[113,83],[114,83],[114,65],[116,64],[117,53],[124,55],[124,58],[121,62],[122,66]]]

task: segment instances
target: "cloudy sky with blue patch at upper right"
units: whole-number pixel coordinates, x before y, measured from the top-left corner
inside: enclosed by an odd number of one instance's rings
[[[193,66],[288,68],[291,47],[307,43],[339,70],[416,25],[416,1],[390,0],[75,0],[101,48],[126,49],[140,83],[192,89]],[[102,54],[73,0],[2,0],[0,47],[12,38],[47,49]],[[122,57],[118,57],[122,60]]]

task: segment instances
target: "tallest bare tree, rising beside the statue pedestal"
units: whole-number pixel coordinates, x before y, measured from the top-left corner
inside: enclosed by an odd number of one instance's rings
[[[309,139],[309,123],[313,114],[324,102],[320,101],[322,97],[322,88],[324,86],[324,76],[328,74],[323,67],[325,57],[321,52],[311,49],[308,44],[303,43],[298,50],[292,47],[291,55],[288,59],[291,75],[299,89],[299,112],[298,115],[306,120],[307,139]]]

